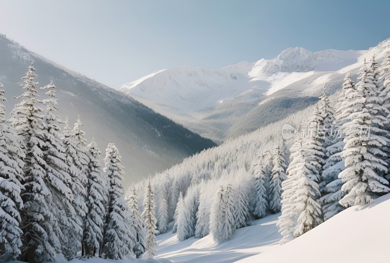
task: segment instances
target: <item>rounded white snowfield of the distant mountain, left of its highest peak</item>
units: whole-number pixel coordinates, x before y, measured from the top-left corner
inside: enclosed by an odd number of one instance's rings
[[[246,90],[250,80],[247,72],[251,69],[252,64],[246,61],[218,70],[180,66],[152,73],[117,89],[144,103],[193,113]]]

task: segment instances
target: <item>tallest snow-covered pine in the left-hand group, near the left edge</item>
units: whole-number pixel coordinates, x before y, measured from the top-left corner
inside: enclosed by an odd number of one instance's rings
[[[44,151],[46,150],[45,130],[43,125],[41,101],[37,99],[38,78],[33,68],[33,62],[22,77],[20,85],[24,89],[22,99],[12,110],[12,127],[22,137],[25,166],[24,190],[21,198],[24,207],[21,210],[22,219],[22,249],[20,259],[27,262],[54,261],[56,252],[60,252],[59,236],[56,232],[57,219],[51,211],[52,195],[47,188]]]

